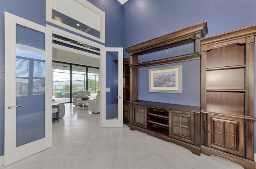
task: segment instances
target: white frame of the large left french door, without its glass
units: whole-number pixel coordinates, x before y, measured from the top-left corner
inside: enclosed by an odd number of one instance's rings
[[[4,131],[4,165],[9,165],[52,147],[52,38],[46,27],[25,20],[8,12],[5,19],[5,131]],[[32,28],[45,34],[45,137],[31,143],[16,147],[16,24]],[[12,76],[10,76],[12,75]],[[15,77],[14,77],[15,75]]]

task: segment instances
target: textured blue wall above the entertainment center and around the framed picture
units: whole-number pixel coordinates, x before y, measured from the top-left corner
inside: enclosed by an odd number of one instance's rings
[[[126,48],[205,20],[208,24],[206,36],[228,32],[256,24],[255,9],[255,0],[129,0],[123,5],[123,45]],[[161,55],[148,57],[150,60],[156,60],[162,55],[177,56],[182,50],[192,50],[192,48],[182,46],[172,52],[165,50]],[[124,52],[124,56],[129,56],[127,51]],[[140,62],[144,61],[141,59]],[[195,68],[197,66],[200,66],[198,61],[182,63],[182,94],[149,93],[148,68],[140,68],[138,98],[200,106],[200,68]]]

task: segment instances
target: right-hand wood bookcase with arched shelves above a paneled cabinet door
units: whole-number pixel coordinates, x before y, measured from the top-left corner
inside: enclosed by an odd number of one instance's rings
[[[201,39],[202,153],[246,169],[254,161],[256,26]]]

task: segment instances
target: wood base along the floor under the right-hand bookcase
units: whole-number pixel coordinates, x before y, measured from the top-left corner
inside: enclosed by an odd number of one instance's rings
[[[216,156],[220,156],[226,159],[229,159],[231,161],[234,161],[235,163],[238,163],[240,165],[242,165],[242,167],[244,167],[244,169],[256,169],[256,162],[255,161],[251,161],[242,157],[238,157],[236,155],[232,155],[229,153],[225,153],[222,151],[218,151],[216,149],[212,149],[210,147],[206,147],[206,146],[201,146],[201,153],[205,154],[205,155],[216,155]]]

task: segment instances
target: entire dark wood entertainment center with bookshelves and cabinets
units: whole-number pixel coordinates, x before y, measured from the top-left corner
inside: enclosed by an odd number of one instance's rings
[[[256,25],[204,38],[207,22],[126,48],[124,123],[192,153],[217,155],[256,168],[254,42]],[[148,62],[139,56],[194,43],[194,53]],[[201,106],[138,100],[138,68],[201,60]]]

